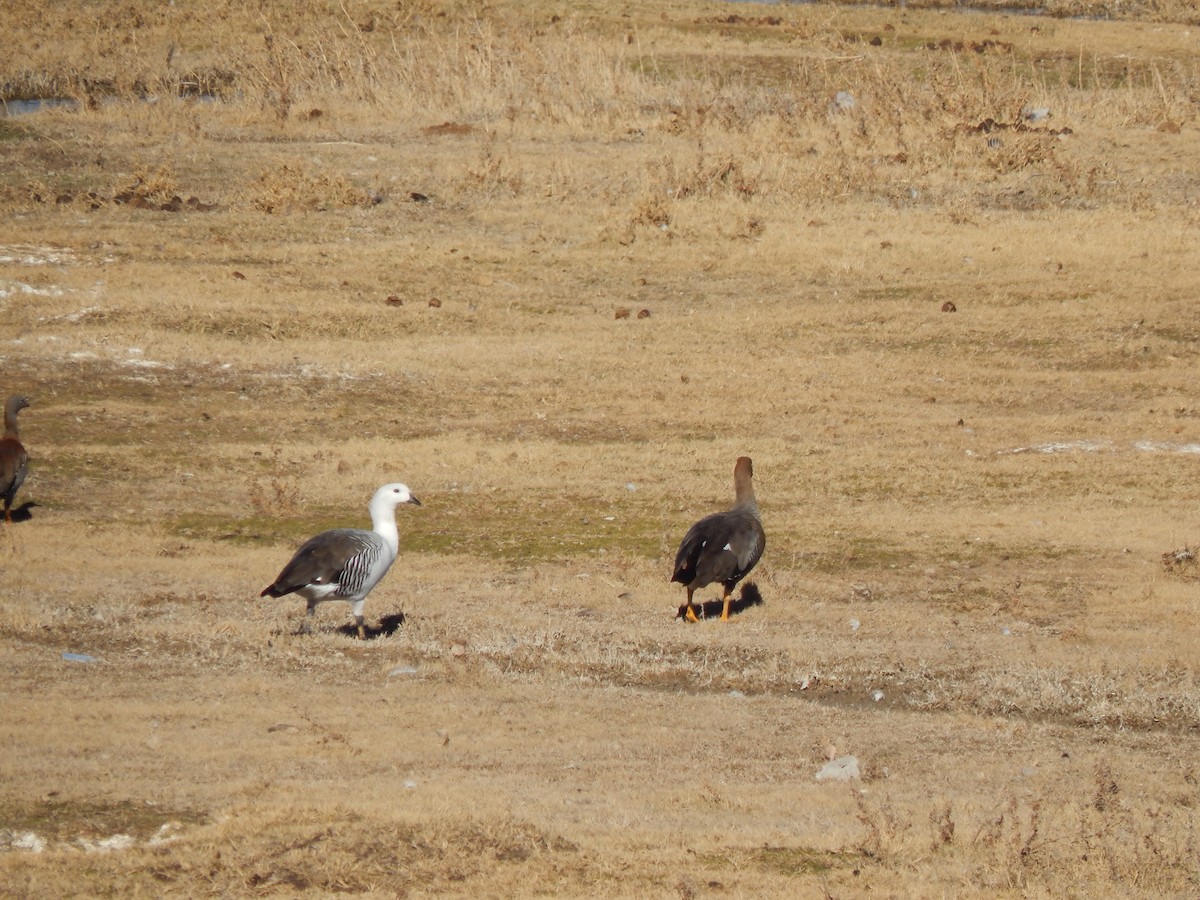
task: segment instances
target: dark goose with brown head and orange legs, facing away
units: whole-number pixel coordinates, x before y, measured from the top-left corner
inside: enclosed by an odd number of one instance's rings
[[[704,516],[688,529],[676,554],[672,582],[688,587],[688,619],[696,622],[691,595],[706,584],[720,582],[725,588],[721,622],[730,620],[730,592],[762,556],[767,535],[754,498],[754,464],[749,456],[738,457],[733,467],[737,500],[727,512]]]

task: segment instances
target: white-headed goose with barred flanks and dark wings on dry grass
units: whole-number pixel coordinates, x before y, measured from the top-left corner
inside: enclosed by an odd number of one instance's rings
[[[362,640],[366,636],[362,606],[367,594],[388,574],[400,553],[396,506],[402,503],[421,505],[406,485],[384,485],[371,498],[372,530],[335,528],[310,538],[259,596],[299,594],[307,600],[308,610],[300,625],[304,635],[312,630],[317,604],[344,600],[350,604],[359,640]]]

